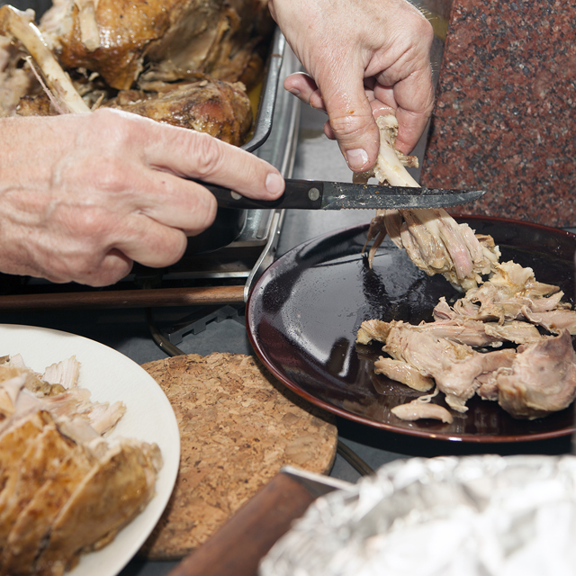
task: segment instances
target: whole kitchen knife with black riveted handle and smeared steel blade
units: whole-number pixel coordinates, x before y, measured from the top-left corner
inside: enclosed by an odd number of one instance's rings
[[[286,178],[286,189],[276,200],[253,200],[225,186],[199,183],[216,196],[223,208],[343,210],[383,208],[441,208],[473,202],[485,190],[410,188],[383,184],[352,184]]]

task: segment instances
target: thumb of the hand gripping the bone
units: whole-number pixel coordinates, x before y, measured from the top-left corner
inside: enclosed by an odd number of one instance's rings
[[[318,84],[330,128],[348,166],[355,172],[365,172],[376,162],[380,135],[363,78],[346,85],[342,82],[342,77],[352,76],[352,73],[341,73]]]

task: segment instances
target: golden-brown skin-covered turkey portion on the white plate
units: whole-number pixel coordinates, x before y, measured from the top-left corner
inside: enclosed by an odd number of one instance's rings
[[[110,543],[154,496],[161,465],[156,445],[76,445],[41,416],[4,435],[0,455],[20,458],[9,463],[0,493],[2,576],[62,574],[80,554]],[[22,450],[15,440],[24,431]]]

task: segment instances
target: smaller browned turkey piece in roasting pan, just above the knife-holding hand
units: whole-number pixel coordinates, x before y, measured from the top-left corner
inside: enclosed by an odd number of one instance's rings
[[[161,85],[157,87],[162,89]],[[198,75],[194,82],[168,87],[168,92],[154,94],[124,92],[109,105],[156,121],[206,132],[235,146],[242,144],[252,123],[250,101],[242,85]]]

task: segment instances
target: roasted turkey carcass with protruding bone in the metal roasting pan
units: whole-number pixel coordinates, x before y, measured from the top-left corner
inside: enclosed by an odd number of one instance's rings
[[[239,146],[272,20],[262,0],[0,8],[0,116],[112,106]],[[11,42],[7,40],[12,40]]]

